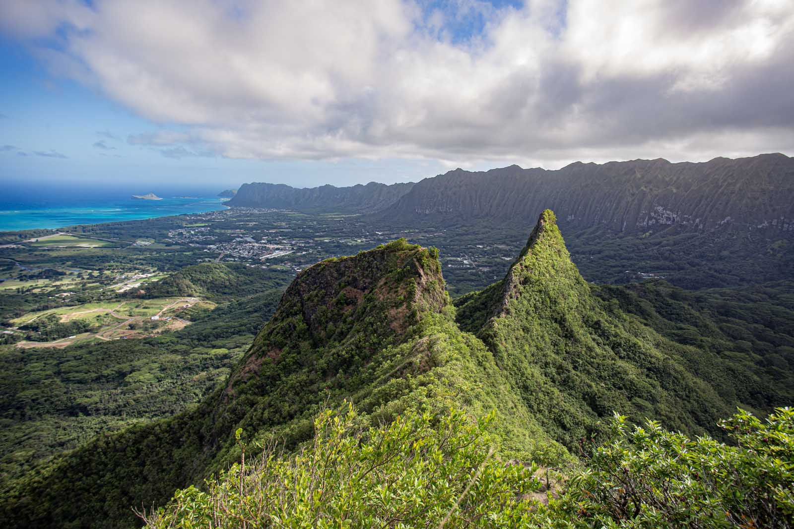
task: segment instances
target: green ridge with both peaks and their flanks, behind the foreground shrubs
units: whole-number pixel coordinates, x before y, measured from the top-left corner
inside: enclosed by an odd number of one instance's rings
[[[359,429],[414,412],[493,411],[491,451],[555,467],[573,462],[580,438],[603,433],[613,410],[722,435],[717,420],[743,401],[700,376],[707,363],[684,356],[695,350],[595,296],[550,211],[500,282],[457,310],[444,286],[437,251],[405,240],[310,266],[222,389],[28,473],[2,492],[2,516],[29,527],[128,527],[131,505],[162,505],[237,461],[237,428],[247,443],[278,439],[292,450],[313,437],[318,412],[345,400]],[[762,411],[788,394],[770,394]]]

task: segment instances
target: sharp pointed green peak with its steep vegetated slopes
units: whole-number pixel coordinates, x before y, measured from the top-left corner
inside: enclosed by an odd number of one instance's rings
[[[684,431],[717,430],[730,405],[680,365],[675,344],[607,312],[545,210],[507,276],[457,301],[461,328],[493,352],[549,434],[569,447],[613,411]]]

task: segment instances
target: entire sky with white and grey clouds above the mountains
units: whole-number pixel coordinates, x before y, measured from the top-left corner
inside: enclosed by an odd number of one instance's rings
[[[794,155],[794,2],[2,0],[0,79],[42,189]]]

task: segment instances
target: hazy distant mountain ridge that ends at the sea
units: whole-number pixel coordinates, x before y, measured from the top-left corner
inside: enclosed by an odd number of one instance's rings
[[[296,209],[306,213],[373,213],[395,203],[412,186],[413,182],[391,186],[369,182],[366,186],[296,189],[284,184],[251,183],[240,186],[225,205]]]

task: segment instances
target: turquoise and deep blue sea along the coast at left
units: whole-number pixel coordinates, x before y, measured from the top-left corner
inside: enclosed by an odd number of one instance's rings
[[[91,201],[79,202],[64,201],[64,203],[58,201],[38,203],[2,201],[0,202],[0,232],[150,219],[183,213],[206,213],[219,209],[227,208],[218,197],[163,197],[163,200],[136,200],[129,197],[117,197],[96,198]]]

